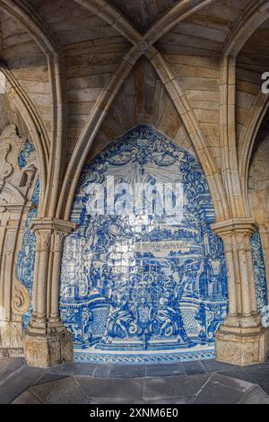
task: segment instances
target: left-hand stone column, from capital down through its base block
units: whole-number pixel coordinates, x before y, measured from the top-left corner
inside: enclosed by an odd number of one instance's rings
[[[73,359],[73,338],[60,321],[59,282],[62,244],[74,224],[58,219],[34,219],[37,236],[33,314],[24,335],[28,365],[50,366]]]

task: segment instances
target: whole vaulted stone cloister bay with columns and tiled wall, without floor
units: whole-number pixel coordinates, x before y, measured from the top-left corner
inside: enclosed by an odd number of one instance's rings
[[[0,25],[0,356],[265,363],[269,1],[0,0]],[[108,177],[180,182],[183,219],[93,217]]]

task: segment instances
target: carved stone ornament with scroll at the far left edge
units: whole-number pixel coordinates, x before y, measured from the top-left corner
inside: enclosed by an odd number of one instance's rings
[[[0,332],[0,352],[3,348],[22,348],[22,316],[30,309],[27,286],[16,277],[16,258],[28,215],[37,213],[37,204],[31,200],[37,190],[35,180],[33,145],[18,135],[14,125],[5,127],[0,136],[0,304],[7,327]]]

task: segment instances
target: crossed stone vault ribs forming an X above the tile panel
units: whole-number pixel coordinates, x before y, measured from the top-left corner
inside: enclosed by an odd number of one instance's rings
[[[162,83],[168,89],[171,100],[175,103],[180,118],[183,119],[187,132],[192,138],[195,146],[195,152],[204,166],[205,174],[208,177],[208,181],[211,186],[218,220],[225,220],[229,218],[226,193],[223,188],[220,171],[217,168],[213,154],[207,145],[202,130],[196,121],[195,113],[188,103],[187,98],[184,97],[178,82],[171,74],[168,64],[165,63],[157,49],[152,47],[153,43],[160,39],[164,33],[169,31],[178,22],[183,21],[192,13],[203,9],[206,5],[213,3],[214,0],[205,0],[202,3],[187,0],[187,2],[176,4],[171,8],[169,13],[161,18],[160,21],[156,22],[144,36],[135,31],[133,26],[129,24],[126,19],[105,0],[96,0],[93,4],[88,0],[75,1],[82,4],[93,13],[97,13],[106,22],[112,24],[112,26],[121,33],[121,35],[125,36],[127,40],[134,44],[134,47],[124,58],[123,62],[117,67],[115,75],[108,83],[108,87],[101,94],[99,101],[97,101],[91,112],[90,121],[86,127],[84,127],[82,135],[74,147],[70,163],[67,171],[65,172],[63,188],[61,190],[57,207],[57,217],[63,216],[65,219],[68,219],[74,198],[74,190],[78,182],[80,172],[82,171],[82,165],[89,154],[93,139],[100,128],[100,124],[106,116],[108,108],[111,106],[112,101],[114,101],[123,81],[126,79],[126,76],[134,67],[138,58],[145,55],[152,61],[152,65],[156,72],[160,75]]]

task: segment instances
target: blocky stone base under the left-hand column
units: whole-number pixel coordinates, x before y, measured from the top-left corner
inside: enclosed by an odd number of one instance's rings
[[[64,327],[49,330],[47,334],[26,330],[24,356],[30,366],[48,367],[72,361],[74,358],[72,334]]]

